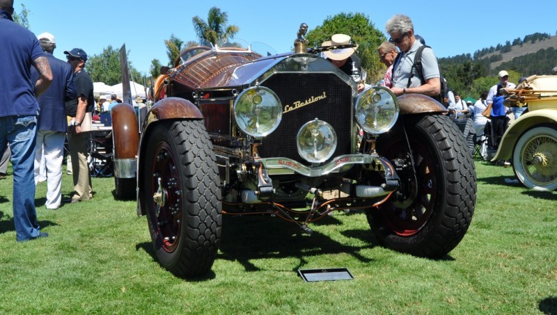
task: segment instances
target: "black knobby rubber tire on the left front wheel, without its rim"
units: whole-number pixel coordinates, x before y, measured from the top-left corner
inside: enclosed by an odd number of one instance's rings
[[[221,236],[217,160],[202,120],[164,122],[156,126],[150,133],[148,150],[155,150],[156,143],[164,140],[165,134],[171,149],[176,150],[175,164],[180,169],[183,222],[178,248],[173,252],[162,248],[161,240],[155,233],[155,218],[149,220],[150,232],[157,258],[165,268],[182,277],[198,277],[212,267]],[[151,159],[154,157],[151,156]],[[149,163],[146,160],[146,164]],[[146,165],[146,176],[149,172],[150,167]],[[148,204],[153,205],[152,202]],[[154,216],[152,210],[148,209],[148,216]]]

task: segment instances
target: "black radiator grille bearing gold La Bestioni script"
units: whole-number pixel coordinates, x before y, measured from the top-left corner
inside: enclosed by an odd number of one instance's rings
[[[330,73],[280,73],[274,74],[262,86],[270,88],[283,104],[283,118],[278,128],[265,137],[259,147],[260,156],[283,156],[304,163],[297,152],[296,135],[300,127],[319,118],[335,129],[338,146],[333,156],[350,153],[352,138],[352,89],[338,76]],[[299,106],[284,113],[285,106],[326,95],[306,106]]]

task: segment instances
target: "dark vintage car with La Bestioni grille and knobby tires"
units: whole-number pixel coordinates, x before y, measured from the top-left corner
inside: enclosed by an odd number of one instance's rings
[[[300,36],[294,52],[271,56],[194,47],[156,80],[139,132],[131,106],[113,110],[115,165],[127,169],[115,172],[116,193],[136,193],[162,266],[210,270],[222,214],[272,215],[311,234],[331,211],[361,209],[379,243],[419,257],[462,240],[476,172],[461,132],[430,97],[359,95],[320,56],[351,47],[308,48]]]

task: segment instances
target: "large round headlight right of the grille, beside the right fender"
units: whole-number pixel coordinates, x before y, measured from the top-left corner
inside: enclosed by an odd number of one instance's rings
[[[356,100],[356,121],[368,134],[389,131],[398,118],[398,100],[389,88],[372,86]]]

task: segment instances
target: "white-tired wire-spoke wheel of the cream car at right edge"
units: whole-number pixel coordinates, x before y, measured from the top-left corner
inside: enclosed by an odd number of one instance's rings
[[[520,136],[512,153],[518,180],[536,191],[557,189],[557,130],[535,127]]]

